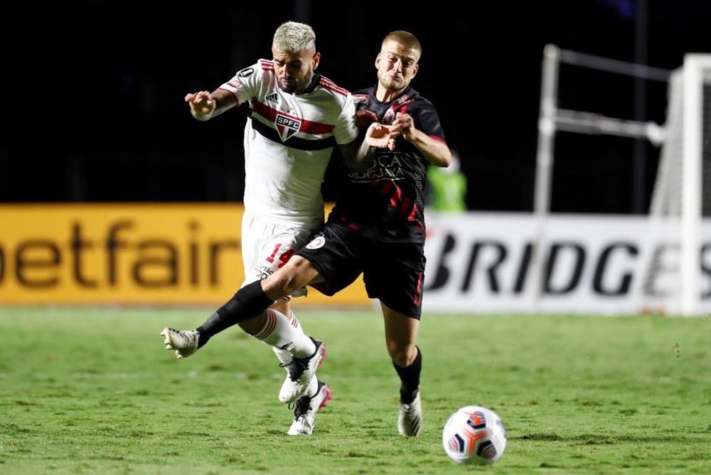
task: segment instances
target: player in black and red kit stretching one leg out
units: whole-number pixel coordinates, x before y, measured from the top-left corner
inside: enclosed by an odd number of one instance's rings
[[[348,174],[327,223],[304,248],[267,279],[242,287],[195,330],[198,341],[186,348],[200,348],[215,333],[260,315],[304,285],[333,295],[362,273],[368,297],[379,299],[383,310],[385,345],[400,377],[398,431],[409,437],[422,428],[417,333],[425,263],[425,174],[429,164],[451,162],[437,110],[410,87],[421,54],[412,33],[385,36],[375,58],[378,84],[353,98],[360,125],[382,124],[390,131],[390,146],[378,149],[365,169]],[[297,400],[295,416],[299,410],[315,414],[318,408],[310,402],[308,396]]]

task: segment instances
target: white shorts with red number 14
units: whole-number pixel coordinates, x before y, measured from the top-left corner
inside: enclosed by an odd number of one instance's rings
[[[311,228],[274,223],[245,212],[242,218],[242,287],[266,279],[287,263],[294,252],[308,242]]]

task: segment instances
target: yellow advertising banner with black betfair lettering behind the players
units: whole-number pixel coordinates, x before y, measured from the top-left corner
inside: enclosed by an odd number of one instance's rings
[[[241,203],[0,206],[0,304],[219,306],[244,279]],[[368,305],[362,279],[335,297]]]

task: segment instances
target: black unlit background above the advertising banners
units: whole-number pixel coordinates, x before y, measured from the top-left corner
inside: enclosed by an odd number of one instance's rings
[[[240,201],[246,110],[198,122],[183,97],[271,58],[290,19],[314,26],[321,73],[351,90],[375,83],[385,33],[419,37],[412,84],[461,156],[471,210],[533,208],[545,44],[664,69],[711,52],[708,1],[423,1],[0,0],[0,201]],[[570,65],[559,107],[633,119],[635,87],[639,118],[663,123],[665,83]],[[645,213],[658,148],[634,142],[560,132],[552,210]]]

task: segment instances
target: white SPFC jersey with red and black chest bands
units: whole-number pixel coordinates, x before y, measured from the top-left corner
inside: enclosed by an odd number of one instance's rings
[[[272,61],[263,59],[220,89],[252,109],[245,125],[245,209],[284,225],[319,226],[333,146],[358,136],[351,94],[320,75],[302,94],[284,92]]]

